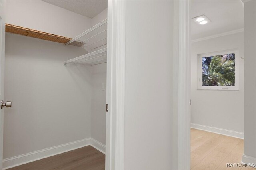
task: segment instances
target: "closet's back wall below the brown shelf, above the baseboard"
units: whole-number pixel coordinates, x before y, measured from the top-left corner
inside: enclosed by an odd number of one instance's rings
[[[4,158],[90,137],[90,67],[79,47],[6,34]]]

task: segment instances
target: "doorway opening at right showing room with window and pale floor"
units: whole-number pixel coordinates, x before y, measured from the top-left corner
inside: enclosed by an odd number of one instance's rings
[[[240,164],[244,138],[244,6],[192,1],[190,168]]]

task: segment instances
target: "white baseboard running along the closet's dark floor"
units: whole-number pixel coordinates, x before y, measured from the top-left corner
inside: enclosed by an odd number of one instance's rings
[[[93,138],[86,138],[82,140],[77,140],[74,142],[66,143],[66,144],[61,144],[58,146],[54,146],[51,148],[46,148],[42,150],[38,150],[35,152],[30,152],[28,154],[23,154],[19,156],[14,156],[12,158],[7,158],[3,160],[3,170],[12,168],[15,166],[19,166],[22,164],[26,164],[29,162],[33,162],[36,160],[40,160],[43,158],[47,158],[50,156],[54,156],[56,154],[61,154],[64,152],[68,152],[70,150],[82,148],[84,146],[91,145],[92,147],[96,148],[100,152],[105,154],[105,145],[98,142],[97,140]]]

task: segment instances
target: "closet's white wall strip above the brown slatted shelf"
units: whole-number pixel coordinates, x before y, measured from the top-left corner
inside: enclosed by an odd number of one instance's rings
[[[6,23],[74,38],[91,27],[91,20],[41,0],[6,1]]]

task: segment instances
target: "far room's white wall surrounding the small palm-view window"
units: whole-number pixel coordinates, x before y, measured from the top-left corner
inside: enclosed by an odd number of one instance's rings
[[[239,91],[197,90],[198,54],[238,48]],[[191,123],[244,132],[244,32],[191,45]]]

